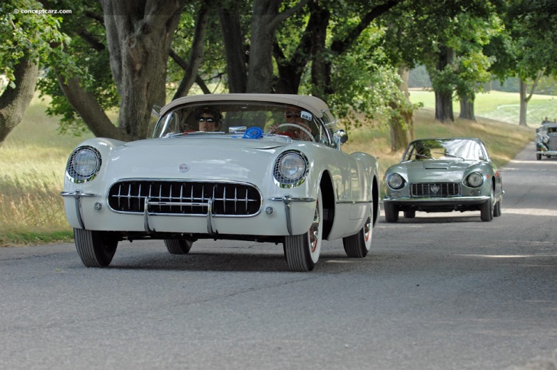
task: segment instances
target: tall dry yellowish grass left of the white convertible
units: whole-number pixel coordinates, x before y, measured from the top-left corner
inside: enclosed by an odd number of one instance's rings
[[[35,98],[0,147],[0,246],[71,235],[59,193],[68,155],[85,137],[58,134],[58,120],[45,115],[46,106]]]

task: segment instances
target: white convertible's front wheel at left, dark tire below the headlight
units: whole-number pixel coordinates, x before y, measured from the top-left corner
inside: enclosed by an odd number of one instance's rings
[[[75,249],[87,267],[107,267],[116,253],[118,240],[106,231],[74,228]]]

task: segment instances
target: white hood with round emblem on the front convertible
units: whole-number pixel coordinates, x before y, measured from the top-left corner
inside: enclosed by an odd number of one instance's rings
[[[107,163],[107,177],[113,178],[246,181],[254,172],[260,175],[272,171],[272,161],[286,146],[299,148],[308,144],[241,137],[146,139],[113,148],[108,162],[104,158],[103,162]]]

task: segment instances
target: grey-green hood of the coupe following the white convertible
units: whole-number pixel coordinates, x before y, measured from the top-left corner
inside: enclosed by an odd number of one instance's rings
[[[409,183],[430,182],[460,182],[481,161],[476,160],[416,160],[402,162],[391,169],[389,173],[397,172],[405,177]]]

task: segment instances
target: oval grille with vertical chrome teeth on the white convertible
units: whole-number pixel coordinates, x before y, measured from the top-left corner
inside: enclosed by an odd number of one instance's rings
[[[258,189],[246,183],[123,180],[109,190],[109,206],[126,213],[249,216],[261,207]]]

